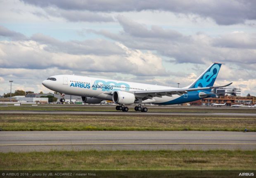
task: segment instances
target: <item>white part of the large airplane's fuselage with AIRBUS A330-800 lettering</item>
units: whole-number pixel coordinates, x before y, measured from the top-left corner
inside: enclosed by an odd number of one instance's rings
[[[120,80],[109,80],[95,77],[85,77],[79,75],[54,75],[49,78],[55,78],[53,80],[44,80],[42,84],[53,91],[59,93],[76,95],[76,96],[86,96],[94,97],[102,100],[112,100],[112,96],[109,94],[104,94],[106,91],[147,91],[147,90],[164,90],[164,89],[178,89],[175,87],[166,87],[152,84],[141,84],[135,82],[126,82]],[[191,92],[192,94],[192,92]],[[198,95],[198,92],[196,93]],[[152,99],[147,99],[142,101],[142,103],[165,103],[176,98],[179,95],[153,97]],[[187,94],[182,96],[187,98]]]

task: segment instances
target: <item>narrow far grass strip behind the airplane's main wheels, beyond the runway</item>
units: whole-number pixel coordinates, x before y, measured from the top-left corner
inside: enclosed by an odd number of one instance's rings
[[[116,105],[112,106],[91,106],[91,105],[80,105],[80,106],[72,106],[70,105],[38,105],[38,106],[0,106],[0,110],[33,110],[33,111],[114,111]],[[194,107],[166,107],[166,108],[158,108],[158,107],[148,107],[148,112],[202,112],[202,113],[256,113],[256,109],[252,108],[215,108],[215,107],[202,107],[202,108],[194,108]],[[134,111],[134,106],[130,106],[130,111]],[[129,111],[129,112],[130,112]]]

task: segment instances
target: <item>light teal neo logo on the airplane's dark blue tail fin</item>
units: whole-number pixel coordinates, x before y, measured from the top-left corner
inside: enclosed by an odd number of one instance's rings
[[[212,66],[210,71],[206,72],[204,76],[197,81],[197,83],[195,84],[195,88],[213,86],[213,83],[218,75],[219,70],[220,66],[218,64]]]

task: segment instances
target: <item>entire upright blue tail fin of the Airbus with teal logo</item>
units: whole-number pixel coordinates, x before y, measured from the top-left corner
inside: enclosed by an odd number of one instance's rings
[[[195,82],[193,82],[186,88],[212,87],[219,73],[221,65],[221,63],[213,63],[209,68],[204,71],[204,73],[202,73],[197,78]],[[211,91],[211,89],[206,89],[204,91]]]

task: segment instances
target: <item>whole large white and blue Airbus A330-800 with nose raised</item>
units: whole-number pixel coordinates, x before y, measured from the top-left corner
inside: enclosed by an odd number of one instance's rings
[[[137,104],[135,111],[147,112],[142,104],[174,105],[197,101],[202,98],[215,97],[211,89],[227,87],[213,87],[222,63],[213,63],[194,82],[187,87],[176,88],[153,84],[125,82],[119,80],[102,79],[78,75],[54,75],[42,84],[61,94],[61,102],[65,101],[65,94],[81,96],[84,103],[97,104],[102,100],[111,100],[116,104],[116,110],[127,112],[126,105]]]

